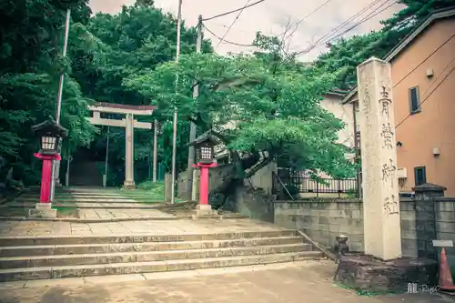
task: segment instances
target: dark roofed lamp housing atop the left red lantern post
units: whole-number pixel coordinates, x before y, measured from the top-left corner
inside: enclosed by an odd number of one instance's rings
[[[54,120],[46,120],[43,123],[32,126],[35,136],[39,137],[40,154],[56,155],[60,138],[65,138],[68,131],[56,124]]]

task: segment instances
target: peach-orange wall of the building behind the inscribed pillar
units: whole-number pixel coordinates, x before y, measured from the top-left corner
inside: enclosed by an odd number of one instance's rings
[[[398,165],[407,170],[401,191],[415,186],[415,167],[426,167],[427,182],[447,187],[446,196],[455,196],[453,35],[455,18],[436,21],[391,61],[396,136],[402,143],[397,146]],[[428,70],[433,76],[427,76]],[[421,110],[410,115],[410,88],[415,86],[419,87]],[[439,156],[433,155],[434,148],[439,149]]]

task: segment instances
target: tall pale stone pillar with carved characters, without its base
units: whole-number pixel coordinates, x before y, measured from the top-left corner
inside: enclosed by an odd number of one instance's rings
[[[399,185],[389,63],[371,57],[357,67],[365,253],[401,257]]]

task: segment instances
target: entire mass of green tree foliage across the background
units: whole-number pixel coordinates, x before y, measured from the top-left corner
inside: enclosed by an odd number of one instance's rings
[[[123,6],[115,15],[92,15],[87,2],[0,0],[4,20],[0,25],[0,178],[13,175],[26,185],[39,180],[39,162],[32,156],[37,140],[31,126],[56,116],[62,72],[66,77],[61,123],[69,130],[63,156],[86,148],[87,154],[102,161],[109,136],[111,185],[118,185],[124,174],[125,131],[91,126],[86,107],[95,101],[158,105],[159,110],[145,121],[159,121],[158,161],[167,170],[177,106],[178,171],[187,166],[184,147],[192,121],[198,134],[212,130],[225,143],[237,164],[237,177],[248,177],[272,159],[290,167],[323,170],[333,177],[349,176],[347,150],[336,143],[343,124],[319,106],[320,96],[333,87],[353,86],[359,63],[369,56],[385,56],[432,11],[455,5],[455,0],[402,0],[408,6],[384,20],[381,30],[339,39],[311,66],[287,56],[277,37],[260,33],[254,41],[259,49],[255,54],[217,56],[204,40],[202,54],[196,55],[196,28],[184,23],[182,56],[176,65],[174,15],[151,0]],[[68,8],[71,27],[64,58]],[[194,81],[200,89],[196,99],[191,93]],[[135,166],[140,172],[136,176],[144,179],[152,133],[139,130],[135,136]]]

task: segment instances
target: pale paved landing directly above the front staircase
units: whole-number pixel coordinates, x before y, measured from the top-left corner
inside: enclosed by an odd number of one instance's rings
[[[43,221],[0,221],[0,237],[18,236],[91,236],[91,235],[182,235],[228,232],[283,230],[250,219],[180,219],[172,221],[127,221],[108,223],[74,223]]]

